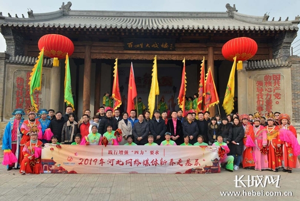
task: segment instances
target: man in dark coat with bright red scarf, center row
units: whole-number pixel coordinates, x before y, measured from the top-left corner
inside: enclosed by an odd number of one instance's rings
[[[181,121],[177,119],[177,112],[173,111],[171,113],[172,118],[167,122],[167,132],[171,134],[171,138],[177,145],[183,143],[183,133]],[[176,130],[174,129],[176,128]]]

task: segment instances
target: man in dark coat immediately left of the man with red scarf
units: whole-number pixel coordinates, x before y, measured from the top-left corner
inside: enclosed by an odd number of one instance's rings
[[[160,111],[154,111],[154,116],[155,118],[149,121],[149,128],[151,134],[154,136],[154,142],[160,145],[164,140],[164,134],[167,131],[167,127],[164,120],[160,117]]]

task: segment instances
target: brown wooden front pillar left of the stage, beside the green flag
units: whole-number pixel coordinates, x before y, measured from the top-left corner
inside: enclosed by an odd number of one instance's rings
[[[84,70],[83,70],[83,113],[90,109],[91,101],[91,45],[85,45]]]

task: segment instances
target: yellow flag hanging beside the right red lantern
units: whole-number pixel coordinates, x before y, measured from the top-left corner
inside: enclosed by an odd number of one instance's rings
[[[234,62],[233,62],[231,72],[229,75],[229,80],[227,83],[224,101],[223,101],[223,105],[222,105],[226,114],[230,114],[234,109],[233,97],[234,97],[234,82],[235,82],[237,56],[235,56],[233,59],[234,59]]]

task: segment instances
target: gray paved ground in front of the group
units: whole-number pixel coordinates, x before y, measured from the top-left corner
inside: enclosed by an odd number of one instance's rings
[[[2,158],[0,158],[2,161]],[[236,188],[236,175],[280,175],[280,188]],[[293,197],[221,197],[221,191],[285,191]],[[240,169],[220,174],[20,175],[0,166],[0,201],[300,201],[300,170],[292,174]]]

